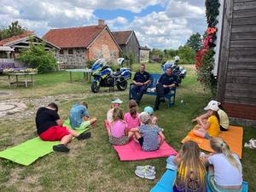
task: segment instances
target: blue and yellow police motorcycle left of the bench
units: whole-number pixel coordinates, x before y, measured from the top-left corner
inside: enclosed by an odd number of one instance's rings
[[[105,59],[98,59],[91,67],[91,75],[94,78],[90,85],[91,91],[96,93],[100,90],[100,87],[113,88],[115,85],[119,90],[125,90],[127,81],[131,78],[131,71],[129,68],[122,67],[123,63],[124,58],[119,58],[120,68],[113,72]]]

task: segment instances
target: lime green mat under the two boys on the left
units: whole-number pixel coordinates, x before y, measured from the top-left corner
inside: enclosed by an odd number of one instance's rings
[[[87,131],[89,128],[79,130],[79,133]],[[73,137],[74,138],[74,137]],[[13,148],[7,148],[0,152],[0,157],[14,161],[23,166],[29,166],[38,158],[43,157],[46,154],[53,152],[52,147],[56,142],[46,142],[40,139],[40,137],[32,138],[31,140],[21,143]]]

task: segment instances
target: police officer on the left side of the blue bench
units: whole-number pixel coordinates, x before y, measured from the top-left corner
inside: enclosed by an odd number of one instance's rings
[[[150,84],[150,75],[145,71],[145,64],[141,64],[140,71],[135,73],[132,83],[134,85],[131,87],[131,99],[139,104]]]

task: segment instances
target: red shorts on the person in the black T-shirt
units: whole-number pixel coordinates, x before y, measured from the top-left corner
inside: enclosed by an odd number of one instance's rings
[[[61,141],[62,137],[69,135],[66,126],[51,126],[48,130],[42,132],[39,137],[44,141]]]

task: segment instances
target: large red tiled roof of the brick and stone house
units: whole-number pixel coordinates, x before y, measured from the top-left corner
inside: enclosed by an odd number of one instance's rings
[[[51,29],[43,39],[60,48],[87,48],[102,32],[105,26],[82,26],[64,29]]]

